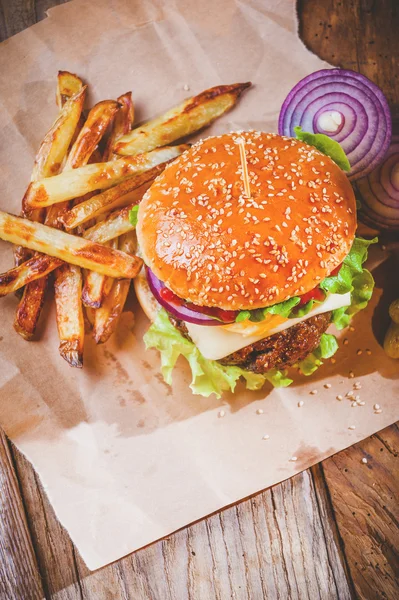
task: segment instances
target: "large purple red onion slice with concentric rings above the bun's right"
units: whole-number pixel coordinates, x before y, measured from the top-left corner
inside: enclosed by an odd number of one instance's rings
[[[294,127],[324,133],[341,144],[352,180],[382,161],[391,140],[391,115],[382,91],[364,75],[322,69],[302,79],[281,108],[280,135],[294,137]]]

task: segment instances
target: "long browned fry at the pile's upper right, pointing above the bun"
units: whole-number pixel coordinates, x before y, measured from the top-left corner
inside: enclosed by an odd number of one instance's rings
[[[171,144],[206,127],[232,108],[251,83],[218,85],[185,100],[166,113],[126,134],[115,152],[132,156]]]

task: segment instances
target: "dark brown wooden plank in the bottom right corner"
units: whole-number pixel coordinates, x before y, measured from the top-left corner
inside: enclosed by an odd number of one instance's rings
[[[362,600],[399,597],[398,455],[399,428],[392,425],[323,462],[351,579]]]

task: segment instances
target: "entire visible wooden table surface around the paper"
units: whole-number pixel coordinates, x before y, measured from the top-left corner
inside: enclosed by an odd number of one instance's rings
[[[0,39],[60,3],[0,0]],[[370,77],[399,117],[399,2],[301,0],[298,8],[307,46],[332,64]],[[392,425],[90,573],[31,466],[0,433],[0,598],[395,600],[398,450],[399,429]]]

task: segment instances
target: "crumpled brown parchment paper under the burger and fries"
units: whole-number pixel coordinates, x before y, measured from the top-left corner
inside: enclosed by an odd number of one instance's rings
[[[185,85],[197,93],[251,80],[254,88],[207,134],[275,131],[291,87],[328,66],[298,39],[294,8],[288,0],[75,0],[4,42],[1,209],[19,212],[35,150],[56,115],[58,69],[84,77],[93,102],[133,90],[138,120],[181,101]],[[173,388],[163,383],[157,353],[145,352],[142,343],[148,322],[134,306],[135,325],[126,312],[106,346],[87,338],[85,367],[76,371],[58,356],[53,308],[41,324],[41,340],[27,343],[12,328],[17,299],[0,300],[0,423],[32,461],[89,568],[290,477],[399,418],[398,362],[376,339],[393,293],[385,259],[374,253],[374,300],[355,319],[355,331],[344,333],[349,343],[335,364],[286,390],[240,389],[220,401],[190,393],[184,363]],[[2,243],[1,271],[11,264],[11,248]],[[354,381],[361,382],[357,393],[366,402],[356,408],[336,400]],[[383,408],[378,415],[375,402]]]

